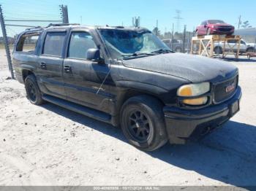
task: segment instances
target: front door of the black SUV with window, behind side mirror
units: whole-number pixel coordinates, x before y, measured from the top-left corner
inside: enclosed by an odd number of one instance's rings
[[[110,68],[108,64],[87,60],[90,48],[97,45],[88,31],[71,31],[63,68],[65,90],[69,101],[99,109],[108,100],[107,90],[101,85]]]

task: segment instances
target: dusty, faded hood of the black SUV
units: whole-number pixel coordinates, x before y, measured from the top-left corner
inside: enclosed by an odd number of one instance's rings
[[[124,66],[155,71],[181,77],[190,82],[221,80],[236,73],[237,68],[227,61],[219,61],[198,55],[169,53],[123,61]]]

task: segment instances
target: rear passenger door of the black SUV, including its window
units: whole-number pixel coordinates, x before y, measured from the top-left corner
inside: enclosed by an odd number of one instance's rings
[[[38,60],[37,71],[42,91],[60,98],[66,98],[62,77],[66,39],[66,30],[47,31]]]

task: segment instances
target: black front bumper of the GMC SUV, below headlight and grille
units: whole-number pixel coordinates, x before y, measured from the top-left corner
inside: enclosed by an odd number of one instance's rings
[[[192,136],[206,134],[219,127],[239,111],[241,87],[229,100],[203,109],[180,109],[165,106],[165,124],[171,144],[185,144]]]

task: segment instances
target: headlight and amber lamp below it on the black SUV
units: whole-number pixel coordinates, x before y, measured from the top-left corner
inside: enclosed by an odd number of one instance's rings
[[[190,84],[190,85],[183,85],[178,88],[177,95],[181,97],[188,97],[184,99],[182,102],[188,105],[203,105],[206,104],[208,101],[207,96],[203,96],[200,98],[189,98],[193,96],[203,95],[204,93],[208,93],[210,91],[210,83],[203,82],[200,84]]]

